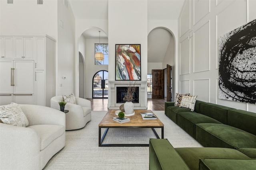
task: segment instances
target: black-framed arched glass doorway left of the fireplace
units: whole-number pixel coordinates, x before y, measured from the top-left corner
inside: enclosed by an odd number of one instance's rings
[[[92,98],[108,98],[108,71],[100,70],[94,74]]]

